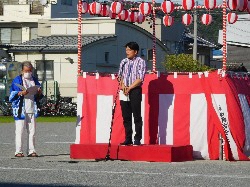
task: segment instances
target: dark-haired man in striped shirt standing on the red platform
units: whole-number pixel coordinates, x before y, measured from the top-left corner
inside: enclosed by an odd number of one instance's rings
[[[125,141],[121,145],[131,145],[132,141],[132,114],[135,123],[134,145],[141,145],[142,139],[142,83],[146,72],[145,61],[138,57],[139,45],[129,42],[125,45],[127,58],[120,63],[118,77],[120,87],[126,99],[121,100],[123,125],[125,127]]]

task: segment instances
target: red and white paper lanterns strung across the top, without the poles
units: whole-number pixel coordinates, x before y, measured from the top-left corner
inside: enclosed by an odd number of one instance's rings
[[[208,13],[201,16],[201,23],[210,25],[213,19],[210,11],[216,8],[222,8],[222,5],[216,5],[216,0],[204,0],[204,6],[195,6],[195,0],[182,0],[182,6],[175,6],[171,0],[165,0],[161,3],[160,7],[153,7],[149,2],[131,2],[133,4],[139,4],[139,6],[138,8],[132,7],[129,10],[124,8],[125,3],[129,4],[128,1],[114,1],[109,6],[106,2],[99,3],[94,1],[88,4],[85,0],[82,0],[82,14],[89,13],[90,15],[110,17],[111,19],[119,19],[132,23],[142,23],[145,21],[146,16],[151,14],[153,9],[161,10],[165,14],[163,24],[170,27],[174,23],[174,18],[171,16],[174,10],[182,9],[186,11],[182,16],[182,23],[189,26],[193,22],[193,16],[190,13],[193,9],[207,9]],[[227,0],[227,7],[231,10],[231,12],[227,14],[227,21],[229,24],[233,24],[238,19],[235,11],[247,11],[250,13],[250,0]]]

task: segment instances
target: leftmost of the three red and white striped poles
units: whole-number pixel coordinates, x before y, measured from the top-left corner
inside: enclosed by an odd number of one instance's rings
[[[78,0],[78,40],[77,40],[77,75],[81,74],[82,56],[82,0]]]

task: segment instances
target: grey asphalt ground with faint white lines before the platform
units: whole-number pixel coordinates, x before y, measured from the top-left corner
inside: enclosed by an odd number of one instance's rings
[[[0,122],[1,123],[1,122]],[[70,159],[74,123],[38,123],[38,158],[15,158],[14,124],[0,125],[0,186],[250,186],[250,162]]]

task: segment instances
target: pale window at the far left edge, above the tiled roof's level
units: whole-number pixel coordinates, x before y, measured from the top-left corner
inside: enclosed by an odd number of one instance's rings
[[[2,44],[20,44],[22,43],[21,28],[1,28],[1,43]]]

